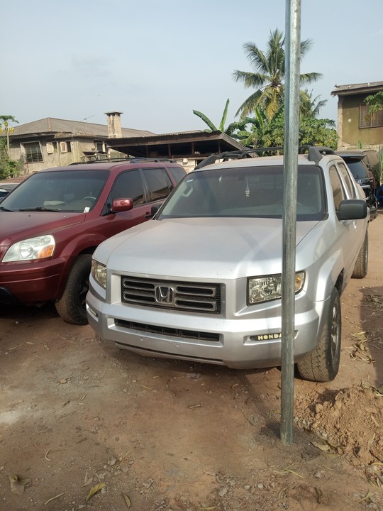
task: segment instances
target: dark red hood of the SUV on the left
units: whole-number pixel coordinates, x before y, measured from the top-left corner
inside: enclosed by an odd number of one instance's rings
[[[0,246],[10,246],[34,236],[52,234],[64,227],[81,224],[84,213],[50,211],[0,211]]]

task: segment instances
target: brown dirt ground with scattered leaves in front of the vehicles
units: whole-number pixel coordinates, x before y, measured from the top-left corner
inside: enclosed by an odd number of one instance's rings
[[[0,311],[1,511],[383,510],[383,211],[328,384],[142,358],[54,307]],[[94,495],[92,495],[94,494]]]

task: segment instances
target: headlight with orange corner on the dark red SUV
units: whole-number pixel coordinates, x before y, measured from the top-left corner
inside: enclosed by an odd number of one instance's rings
[[[13,245],[6,251],[3,263],[18,260],[36,260],[50,258],[55,250],[55,238],[51,234],[27,238]]]

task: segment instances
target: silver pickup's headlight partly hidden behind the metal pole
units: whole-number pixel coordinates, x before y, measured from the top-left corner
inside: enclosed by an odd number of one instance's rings
[[[295,293],[304,287],[304,272],[295,274]],[[248,278],[248,305],[282,297],[282,275],[265,275],[264,277]]]

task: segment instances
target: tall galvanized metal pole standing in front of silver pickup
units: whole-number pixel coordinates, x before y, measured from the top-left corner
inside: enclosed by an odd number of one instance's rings
[[[293,441],[296,182],[299,137],[301,0],[286,0],[284,90],[284,214],[282,259],[281,440]]]

